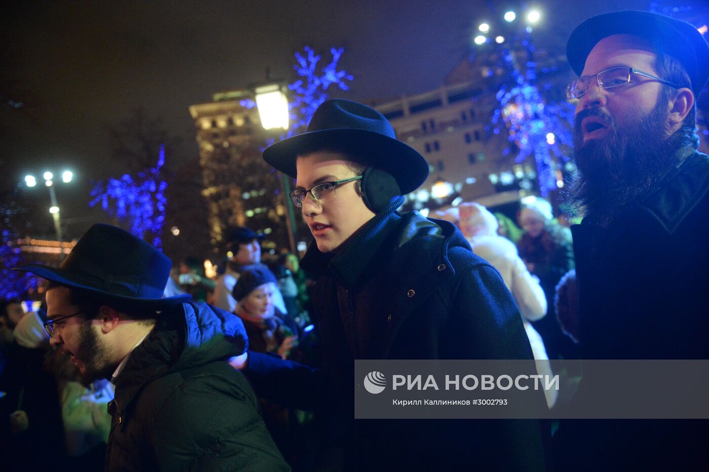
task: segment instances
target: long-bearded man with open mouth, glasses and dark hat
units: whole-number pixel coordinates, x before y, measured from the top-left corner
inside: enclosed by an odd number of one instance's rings
[[[689,23],[616,11],[581,23],[566,49],[581,76],[567,95],[578,99],[573,196],[586,211],[571,227],[583,357],[709,359],[709,158],[695,134],[709,45]],[[581,381],[576,401],[593,403],[584,383],[603,378]],[[697,420],[586,420],[559,433],[561,470],[709,466]]]

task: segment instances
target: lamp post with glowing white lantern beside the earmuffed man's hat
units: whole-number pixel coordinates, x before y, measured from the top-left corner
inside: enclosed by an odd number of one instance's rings
[[[286,96],[286,90],[287,86],[282,82],[255,87],[256,106],[264,130],[287,130],[289,128],[288,96]],[[293,208],[293,202],[290,198],[290,177],[282,172],[279,173],[281,174],[281,191],[286,200],[288,239],[291,252],[297,254],[296,214]]]

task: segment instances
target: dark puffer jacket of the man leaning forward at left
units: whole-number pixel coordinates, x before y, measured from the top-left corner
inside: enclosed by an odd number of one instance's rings
[[[242,373],[241,320],[206,303],[162,314],[115,379],[106,471],[289,471]]]

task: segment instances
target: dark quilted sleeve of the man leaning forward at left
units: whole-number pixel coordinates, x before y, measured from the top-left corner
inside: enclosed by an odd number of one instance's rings
[[[150,441],[160,471],[290,471],[256,402],[245,378],[226,362],[188,373],[153,423]]]

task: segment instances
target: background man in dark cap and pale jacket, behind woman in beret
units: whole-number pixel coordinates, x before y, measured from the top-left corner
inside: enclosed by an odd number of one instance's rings
[[[232,296],[232,291],[239,279],[239,274],[243,266],[261,263],[261,240],[263,235],[257,234],[254,230],[245,226],[232,227],[227,232],[227,250],[232,252],[232,256],[226,262],[224,274],[217,279],[214,288],[214,305],[217,308],[234,313],[236,300]],[[281,291],[276,287],[273,294],[273,303],[281,313],[286,312],[286,303],[283,300]]]

